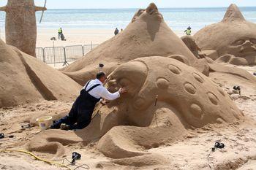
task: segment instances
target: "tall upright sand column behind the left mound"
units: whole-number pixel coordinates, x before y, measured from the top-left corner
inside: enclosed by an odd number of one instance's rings
[[[7,45],[18,47],[32,56],[35,55],[37,23],[35,12],[46,10],[36,7],[34,0],[8,0],[7,6],[0,7],[6,12],[5,39]]]

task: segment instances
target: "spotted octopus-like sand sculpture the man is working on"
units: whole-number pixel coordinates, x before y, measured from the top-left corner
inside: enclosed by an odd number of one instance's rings
[[[27,149],[59,156],[65,152],[63,145],[99,140],[98,149],[114,163],[143,164],[150,159],[165,163],[159,155],[149,157],[146,150],[175,142],[186,136],[188,129],[244,120],[222,88],[173,58],[154,56],[123,63],[105,86],[110,91],[124,86],[128,93],[108,105],[98,105],[88,127],[42,131]]]

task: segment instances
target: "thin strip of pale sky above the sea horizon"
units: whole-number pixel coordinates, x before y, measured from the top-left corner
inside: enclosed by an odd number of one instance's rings
[[[34,0],[35,4],[43,5],[45,0]],[[90,9],[90,8],[145,8],[151,2],[157,7],[256,7],[256,0],[48,0],[48,9]],[[0,0],[0,6],[7,0]]]

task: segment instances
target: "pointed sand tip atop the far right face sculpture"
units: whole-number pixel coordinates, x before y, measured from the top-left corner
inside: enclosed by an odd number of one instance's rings
[[[230,7],[227,8],[227,12],[222,20],[222,22],[232,21],[232,20],[245,20],[240,9],[236,4],[230,4]]]

